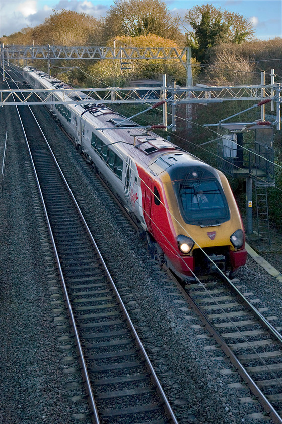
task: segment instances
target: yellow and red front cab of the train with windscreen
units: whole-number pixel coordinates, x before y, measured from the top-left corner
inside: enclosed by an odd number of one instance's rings
[[[162,234],[155,230],[155,238],[177,274],[220,269],[232,275],[247,257],[239,210],[226,177],[198,162],[162,174],[167,207],[159,213]],[[151,214],[154,217],[154,208]]]

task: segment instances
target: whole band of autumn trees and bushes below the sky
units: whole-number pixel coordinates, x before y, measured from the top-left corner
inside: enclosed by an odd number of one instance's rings
[[[254,39],[252,24],[243,16],[216,9],[212,5],[195,6],[183,16],[185,33],[180,31],[181,19],[173,16],[162,0],[114,0],[105,17],[97,20],[85,13],[62,9],[53,11],[34,28],[3,36],[4,44],[116,47],[192,47],[194,83],[219,85],[255,84],[259,71],[275,68],[282,75],[282,39]],[[190,25],[190,28],[189,28]],[[277,58],[277,60],[274,60]],[[42,61],[35,66],[44,68]],[[61,75],[78,85],[128,85],[132,79],[160,79],[186,84],[186,70],[176,60],[96,60],[56,61],[53,74]],[[72,69],[71,69],[72,68]],[[79,69],[80,68],[80,69]],[[64,68],[63,68],[64,69]]]

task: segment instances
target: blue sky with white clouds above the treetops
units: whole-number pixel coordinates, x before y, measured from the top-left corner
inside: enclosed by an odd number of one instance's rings
[[[53,10],[85,12],[100,18],[106,15],[114,0],[0,0],[0,36],[10,35],[27,26],[44,22]],[[282,37],[282,0],[165,0],[172,14],[183,17],[196,5],[212,4],[249,19],[255,36],[261,40]]]

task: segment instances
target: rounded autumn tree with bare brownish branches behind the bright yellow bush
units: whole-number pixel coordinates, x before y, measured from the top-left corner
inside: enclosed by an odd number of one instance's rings
[[[179,17],[173,17],[161,0],[114,0],[104,18],[103,34],[106,41],[118,36],[157,35],[179,41]]]

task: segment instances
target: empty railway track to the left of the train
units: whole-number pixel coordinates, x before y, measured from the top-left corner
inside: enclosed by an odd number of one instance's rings
[[[94,422],[177,420],[29,108],[18,108],[57,259]],[[58,308],[61,300],[57,301]],[[59,312],[60,309],[58,309]]]

